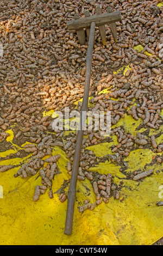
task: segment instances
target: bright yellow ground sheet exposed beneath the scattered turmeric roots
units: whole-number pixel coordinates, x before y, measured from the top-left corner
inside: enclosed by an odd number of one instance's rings
[[[108,92],[108,91],[107,91]],[[46,114],[52,115],[54,111]],[[162,112],[161,112],[162,114]],[[123,125],[126,132],[136,136],[137,126],[142,120],[135,121],[130,115],[120,119],[115,127]],[[145,131],[146,129],[141,129]],[[159,133],[151,130],[151,132]],[[7,141],[12,143],[14,133],[7,131],[10,136]],[[139,131],[140,132],[140,131]],[[68,131],[65,132],[65,134]],[[162,142],[162,135],[156,138],[157,143]],[[112,137],[113,142],[105,142],[93,145],[87,149],[95,152],[98,157],[111,154],[111,145],[117,145],[117,137]],[[25,143],[26,144],[26,143]],[[12,143],[16,153],[22,147],[16,147]],[[1,157],[10,155],[11,151],[1,153]],[[65,152],[59,147],[54,147],[53,155],[61,154],[58,161],[60,174],[53,181],[53,192],[59,190],[64,180],[70,179],[66,170],[68,160]],[[154,169],[154,174],[143,181],[127,179],[125,173],[120,172],[121,166],[111,161],[99,163],[90,168],[100,174],[111,173],[114,182],[120,184],[123,181],[120,200],[109,199],[109,203],[98,205],[95,210],[86,210],[79,213],[78,206],[83,204],[86,198],[93,203],[96,201],[92,185],[89,180],[77,182],[77,199],[74,207],[73,234],[64,235],[67,200],[60,203],[59,195],[54,194],[49,199],[48,193],[40,196],[37,202],[33,202],[34,189],[41,185],[39,174],[26,180],[14,178],[14,174],[20,166],[27,162],[32,155],[20,159],[18,157],[4,160],[1,164],[12,164],[14,168],[8,172],[0,173],[0,185],[3,186],[3,199],[0,199],[0,244],[1,245],[151,245],[163,236],[163,208],[156,206],[159,198],[159,187],[163,184],[163,165],[151,164],[156,154],[151,149],[137,149],[131,151],[124,159],[128,164],[126,175],[138,169]],[[47,158],[47,157],[45,157]],[[20,166],[18,166],[20,165]],[[156,170],[160,170],[156,173]],[[66,191],[68,187],[66,188]],[[162,193],[163,196],[163,193]]]

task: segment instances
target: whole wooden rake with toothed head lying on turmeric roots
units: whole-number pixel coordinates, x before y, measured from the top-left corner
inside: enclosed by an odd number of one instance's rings
[[[83,133],[84,133],[84,127],[86,123],[86,112],[87,112],[87,106],[89,101],[92,51],[93,51],[93,46],[95,42],[95,27],[99,28],[99,33],[101,35],[102,43],[103,45],[105,45],[106,44],[105,24],[109,23],[112,36],[115,42],[117,42],[117,29],[116,29],[115,22],[122,20],[120,11],[112,11],[111,7],[108,7],[107,13],[104,13],[104,14],[102,14],[101,8],[97,7],[96,13],[97,15],[91,16],[89,11],[86,10],[84,18],[80,19],[79,15],[75,14],[74,20],[67,22],[67,28],[69,30],[77,31],[77,36],[78,36],[80,45],[85,44],[84,28],[86,28],[87,39],[89,39],[89,46],[87,48],[87,57],[86,57],[86,74],[85,74],[83,105],[82,105],[82,111],[80,115],[80,123],[79,123],[76,149],[74,154],[71,181],[68,189],[68,203],[67,203],[67,214],[66,214],[66,224],[65,224],[66,235],[72,234],[74,203],[76,199],[76,187],[77,187],[77,179],[78,179],[80,152],[82,149]]]

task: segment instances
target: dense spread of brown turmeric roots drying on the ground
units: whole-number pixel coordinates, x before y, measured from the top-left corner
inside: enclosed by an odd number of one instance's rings
[[[2,163],[0,177],[12,168],[16,168],[17,179],[36,175],[41,184],[36,186],[35,194],[33,191],[33,200],[39,200],[46,191],[53,200],[54,177],[61,173],[58,160],[65,155],[69,179],[65,179],[58,197],[61,203],[67,199],[77,132],[58,131],[55,112],[60,111],[64,118],[66,107],[72,117],[74,110],[81,113],[87,42],[79,45],[76,32],[68,31],[66,22],[74,19],[74,14],[84,17],[86,10],[96,14],[97,6],[103,13],[109,6],[113,11],[120,10],[122,21],[116,22],[117,43],[109,25],[105,26],[105,46],[99,29],[95,32],[89,111],[103,112],[104,125],[110,112],[111,134],[96,129],[95,118],[87,123],[78,179],[90,181],[96,201],[82,209],[108,203],[111,197],[123,201],[123,181],[117,182],[114,174],[106,181],[109,172],[102,175],[96,171],[101,163],[117,166],[125,180],[143,182],[153,173],[160,175],[163,4],[137,0],[0,2],[0,164],[5,160],[11,163],[17,157],[23,160],[11,165]],[[75,127],[76,120],[73,123],[71,119],[69,124]],[[92,147],[105,143],[110,151],[101,156],[93,151]],[[55,155],[55,147],[62,154]],[[143,168],[130,170],[128,158],[139,150],[148,150],[152,159]],[[155,245],[162,245],[162,239]]]

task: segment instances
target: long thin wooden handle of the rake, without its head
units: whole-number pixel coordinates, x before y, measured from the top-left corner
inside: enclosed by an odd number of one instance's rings
[[[92,22],[91,29],[90,29],[89,46],[87,48],[85,88],[84,88],[82,112],[80,115],[80,125],[79,125],[80,128],[85,126],[85,121],[86,121],[85,113],[87,112],[87,106],[89,101],[92,51],[93,51],[93,45],[95,41],[95,26],[96,26],[96,23]],[[72,167],[71,181],[68,189],[68,204],[67,204],[67,214],[66,214],[66,224],[65,224],[66,235],[72,234],[74,203],[76,199],[76,187],[77,187],[77,179],[78,179],[80,152],[82,149],[82,142],[83,142],[83,133],[84,133],[84,129],[80,129],[78,131],[76,150],[74,154],[74,161],[73,161],[73,167]]]

